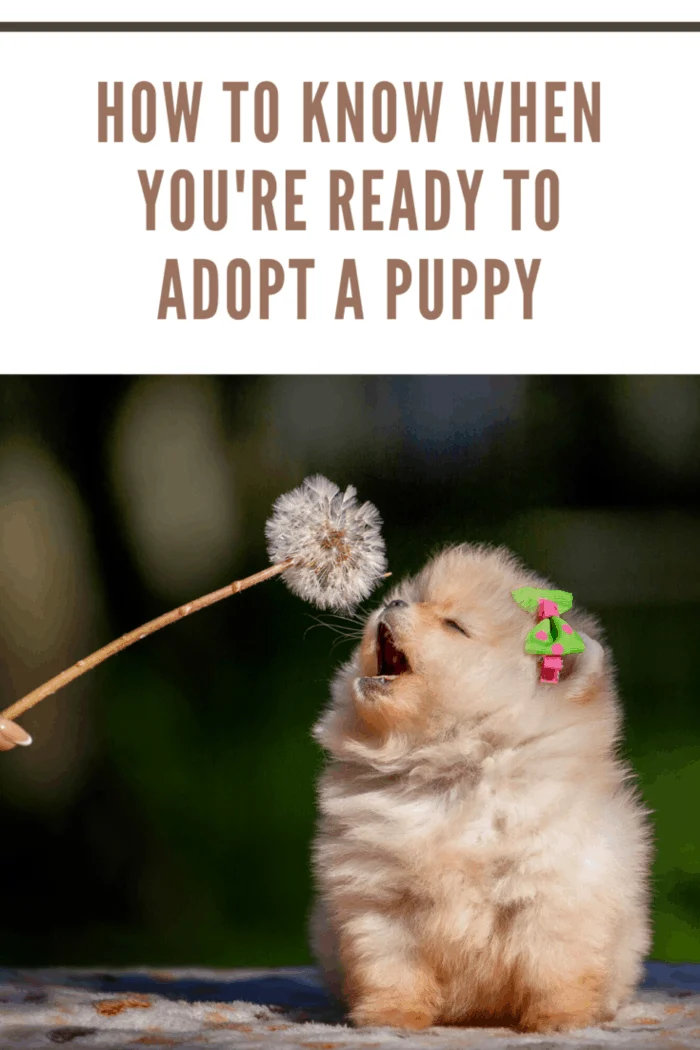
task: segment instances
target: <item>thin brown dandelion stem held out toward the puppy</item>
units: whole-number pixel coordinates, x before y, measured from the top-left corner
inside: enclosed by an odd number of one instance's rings
[[[52,693],[58,692],[59,689],[63,689],[64,686],[75,681],[76,678],[80,678],[86,671],[91,671],[93,667],[102,664],[109,656],[113,656],[114,653],[119,653],[128,646],[132,646],[134,642],[141,642],[142,638],[148,637],[149,634],[153,634],[155,631],[160,631],[162,627],[167,627],[168,624],[174,624],[175,621],[182,620],[183,616],[189,616],[190,613],[198,612],[199,609],[206,609],[207,606],[214,605],[216,602],[220,602],[225,597],[230,597],[232,594],[237,594],[238,591],[247,590],[249,587],[255,586],[255,584],[261,584],[263,580],[271,580],[273,576],[279,575],[280,572],[284,572],[285,569],[291,568],[292,565],[294,565],[294,560],[289,558],[285,562],[280,562],[279,565],[271,565],[269,569],[256,572],[252,576],[246,576],[245,580],[235,580],[232,584],[227,584],[226,587],[212,591],[211,594],[205,594],[203,597],[195,598],[194,602],[188,602],[176,609],[171,609],[170,612],[165,612],[162,616],[156,616],[155,620],[150,620],[142,627],[137,627],[135,631],[129,631],[128,634],[123,634],[115,642],[110,642],[108,646],[103,646],[97,652],[90,653],[85,659],[79,659],[72,667],[61,671],[60,674],[45,681],[43,686],[39,686],[38,689],[27,693],[21,700],[17,700],[8,708],[5,708],[4,711],[0,712],[0,716],[4,718],[17,718],[19,715],[23,715],[35,704],[39,704],[40,700],[51,696]]]

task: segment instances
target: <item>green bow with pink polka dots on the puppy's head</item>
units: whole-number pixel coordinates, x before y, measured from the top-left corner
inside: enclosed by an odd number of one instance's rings
[[[521,587],[512,591],[512,595],[522,609],[537,617],[537,623],[528,632],[525,651],[543,657],[539,680],[554,685],[559,680],[564,656],[582,653],[586,648],[581,636],[559,615],[569,611],[574,596],[569,591],[547,591],[538,587]]]

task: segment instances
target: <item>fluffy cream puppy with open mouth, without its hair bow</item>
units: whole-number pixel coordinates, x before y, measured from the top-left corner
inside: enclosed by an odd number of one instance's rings
[[[434,558],[369,616],[314,730],[330,760],[315,953],[357,1025],[546,1032],[614,1016],[650,945],[650,835],[599,629],[558,684],[506,550]]]

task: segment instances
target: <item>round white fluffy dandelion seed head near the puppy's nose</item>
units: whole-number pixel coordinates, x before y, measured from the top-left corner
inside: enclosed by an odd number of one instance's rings
[[[294,560],[282,573],[290,590],[319,609],[353,609],[386,570],[382,520],[372,503],[358,503],[327,478],[305,478],[280,496],[264,531],[273,564]]]

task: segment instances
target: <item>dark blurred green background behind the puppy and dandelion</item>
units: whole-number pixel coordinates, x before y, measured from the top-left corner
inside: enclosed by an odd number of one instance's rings
[[[395,574],[449,541],[506,543],[601,617],[655,811],[654,956],[700,960],[697,378],[19,377],[0,391],[2,707],[264,567],[273,500],[321,471],[380,508]],[[0,756],[4,964],[309,959],[310,728],[351,649],[309,630],[313,615],[264,584],[22,719],[34,746]]]

